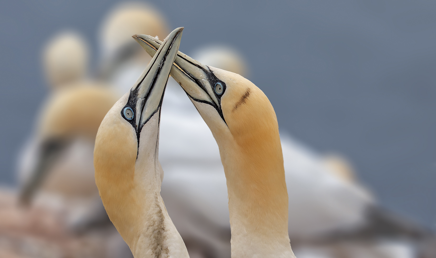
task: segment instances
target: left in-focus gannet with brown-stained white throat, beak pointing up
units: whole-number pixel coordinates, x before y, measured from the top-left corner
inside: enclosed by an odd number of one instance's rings
[[[95,183],[134,257],[189,257],[160,197],[160,106],[183,27],[171,32],[95,139]]]

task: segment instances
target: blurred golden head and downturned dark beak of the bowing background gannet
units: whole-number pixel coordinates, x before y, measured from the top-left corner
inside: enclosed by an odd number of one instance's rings
[[[31,201],[44,178],[76,140],[92,146],[101,121],[115,102],[116,95],[103,85],[85,83],[51,94],[38,119],[36,163],[30,171],[24,171],[29,174],[22,175],[22,203]],[[68,188],[71,187],[64,187]]]

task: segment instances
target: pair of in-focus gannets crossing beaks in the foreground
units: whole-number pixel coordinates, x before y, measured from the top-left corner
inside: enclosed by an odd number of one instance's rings
[[[95,181],[106,211],[135,257],[187,257],[159,194],[160,106],[171,71],[220,148],[232,257],[295,257],[287,231],[288,196],[275,112],[263,92],[242,76],[177,52],[182,29],[153,53],[143,75],[100,125]],[[136,40],[152,44],[146,36]]]

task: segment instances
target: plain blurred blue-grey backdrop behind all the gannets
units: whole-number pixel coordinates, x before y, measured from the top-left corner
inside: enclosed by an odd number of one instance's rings
[[[114,0],[0,3],[0,181],[14,185],[17,152],[47,94],[41,48],[72,28],[96,32]],[[281,131],[337,151],[391,210],[436,224],[434,0],[154,1],[180,50],[228,44],[274,106]],[[94,61],[94,64],[96,62]]]

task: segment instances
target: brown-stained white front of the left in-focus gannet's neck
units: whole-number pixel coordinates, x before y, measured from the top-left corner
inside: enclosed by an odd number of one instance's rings
[[[160,197],[162,168],[158,161],[159,137],[147,135],[153,133],[158,123],[158,113],[147,122],[141,133],[140,149],[135,165],[136,190],[143,195],[143,217],[137,228],[137,235],[130,246],[135,258],[188,258],[185,244],[167,213]],[[149,128],[150,127],[150,128]],[[154,130],[156,132],[157,130]],[[147,133],[144,133],[147,132]],[[157,139],[157,142],[143,140]],[[150,166],[154,164],[154,166]],[[145,168],[145,169],[144,169]]]

